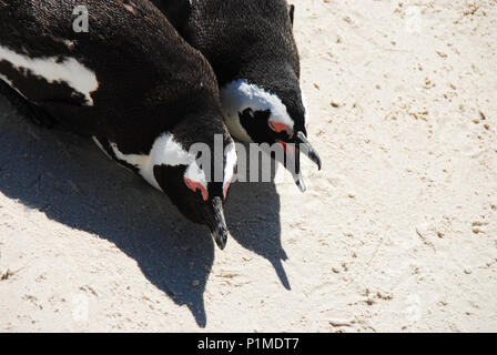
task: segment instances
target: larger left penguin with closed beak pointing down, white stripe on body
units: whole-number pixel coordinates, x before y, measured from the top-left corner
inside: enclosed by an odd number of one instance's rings
[[[73,10],[80,4],[88,9],[89,31],[77,33]],[[224,248],[223,204],[236,152],[215,74],[153,4],[0,1],[0,79],[34,115],[92,136],[187,219],[207,225]],[[216,142],[222,159],[212,154],[210,168],[199,164],[191,148],[202,143],[213,152]],[[209,178],[214,166],[222,168],[216,180]]]

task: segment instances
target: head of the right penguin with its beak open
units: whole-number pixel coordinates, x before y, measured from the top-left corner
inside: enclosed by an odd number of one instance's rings
[[[280,144],[285,152],[282,163],[304,192],[301,153],[320,170],[322,163],[307,140],[308,112],[298,80],[288,77],[264,85],[246,79],[232,81],[222,88],[221,101],[233,136],[244,142]]]

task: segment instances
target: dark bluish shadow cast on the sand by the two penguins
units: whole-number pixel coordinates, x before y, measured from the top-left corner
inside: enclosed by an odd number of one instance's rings
[[[164,194],[110,161],[90,139],[39,128],[1,94],[0,146],[1,193],[115,244],[205,327],[203,294],[215,247],[206,227],[184,219]],[[270,260],[290,290],[274,184],[234,184],[225,213],[233,237]]]

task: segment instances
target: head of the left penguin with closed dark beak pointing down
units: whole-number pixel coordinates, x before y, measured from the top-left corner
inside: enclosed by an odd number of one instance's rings
[[[206,225],[223,250],[229,235],[223,206],[234,176],[236,151],[225,130],[215,133],[199,126],[183,125],[154,144],[153,176],[183,215]]]

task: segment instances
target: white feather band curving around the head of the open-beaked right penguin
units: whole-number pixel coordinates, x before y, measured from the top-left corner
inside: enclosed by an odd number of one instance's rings
[[[253,111],[271,111],[270,120],[282,123],[291,129],[294,121],[288,114],[282,100],[246,80],[235,80],[221,89],[221,103],[226,115],[226,125],[230,133],[244,142],[252,142],[251,136],[240,122],[240,113],[246,109]],[[266,126],[262,128],[266,129]]]

